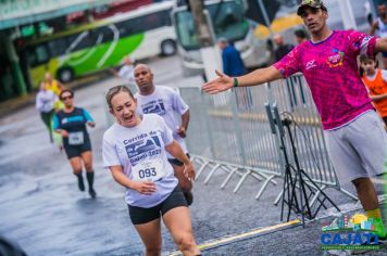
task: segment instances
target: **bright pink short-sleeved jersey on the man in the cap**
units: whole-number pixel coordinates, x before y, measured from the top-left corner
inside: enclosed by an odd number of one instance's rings
[[[357,56],[373,55],[376,37],[335,30],[324,41],[303,42],[274,64],[284,77],[303,73],[325,130],[335,129],[372,110],[359,76]]]

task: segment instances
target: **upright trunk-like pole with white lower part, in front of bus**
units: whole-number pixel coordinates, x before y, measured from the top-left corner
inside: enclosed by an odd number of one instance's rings
[[[209,80],[216,77],[215,69],[221,69],[220,52],[214,47],[214,36],[211,34],[209,17],[204,12],[203,0],[189,0],[196,33],[200,43],[200,54],[203,61],[205,76]]]

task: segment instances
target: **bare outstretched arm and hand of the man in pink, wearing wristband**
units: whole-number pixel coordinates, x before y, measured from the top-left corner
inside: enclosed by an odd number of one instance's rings
[[[238,84],[238,87],[259,86],[283,77],[280,72],[274,66],[259,68],[245,76],[236,77],[237,81],[234,80],[234,77],[229,77],[219,71],[216,71],[216,75],[219,76],[216,79],[213,79],[202,86],[202,90],[204,92],[215,94],[228,90],[235,82]]]

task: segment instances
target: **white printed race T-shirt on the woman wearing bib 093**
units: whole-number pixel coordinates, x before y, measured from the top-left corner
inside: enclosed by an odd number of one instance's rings
[[[104,132],[103,166],[121,165],[130,180],[151,180],[157,184],[157,191],[151,195],[126,189],[125,201],[128,205],[153,207],[175,189],[177,179],[165,151],[165,145],[172,142],[172,131],[155,114],[143,115],[136,127],[114,124]]]

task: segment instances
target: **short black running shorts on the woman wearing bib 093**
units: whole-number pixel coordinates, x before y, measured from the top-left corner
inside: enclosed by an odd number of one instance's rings
[[[166,214],[170,209],[180,206],[188,207],[180,187],[176,185],[170,196],[166,197],[166,200],[164,200],[161,204],[150,208],[128,205],[128,209],[132,222],[134,225],[142,225],[160,218],[161,215]]]

